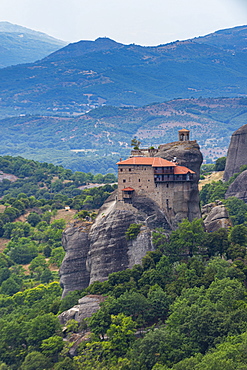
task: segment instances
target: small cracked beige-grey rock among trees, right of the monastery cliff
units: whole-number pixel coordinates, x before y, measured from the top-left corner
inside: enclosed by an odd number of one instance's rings
[[[202,218],[207,232],[228,229],[231,221],[226,207],[221,201],[206,204],[202,207]]]

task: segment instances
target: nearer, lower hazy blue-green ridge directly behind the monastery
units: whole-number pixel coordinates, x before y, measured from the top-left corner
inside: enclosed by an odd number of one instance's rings
[[[175,99],[140,108],[104,106],[78,117],[22,116],[0,121],[1,155],[24,156],[76,171],[113,172],[130,154],[133,137],[142,147],[178,140],[191,130],[207,161],[224,156],[230,136],[247,122],[247,98]]]

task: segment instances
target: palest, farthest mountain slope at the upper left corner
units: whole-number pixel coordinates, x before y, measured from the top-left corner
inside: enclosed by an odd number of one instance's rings
[[[66,42],[45,33],[0,22],[0,68],[35,62],[65,45]]]

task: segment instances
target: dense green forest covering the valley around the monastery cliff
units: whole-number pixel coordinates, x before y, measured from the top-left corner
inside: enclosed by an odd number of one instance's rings
[[[222,162],[203,166],[202,176],[222,169]],[[92,222],[116,186],[79,187],[115,177],[21,157],[0,157],[0,163],[16,177],[0,182],[0,370],[246,369],[247,205],[224,200],[232,179],[201,191],[202,204],[225,203],[229,230],[207,233],[198,219],[184,220],[169,236],[157,229],[156,250],[141,265],[61,299],[66,222]],[[60,218],[62,211],[72,218]],[[139,231],[132,224],[126,238]],[[58,315],[87,294],[105,296],[100,310],[81,323],[70,320],[64,330]],[[72,356],[76,333],[86,340]]]

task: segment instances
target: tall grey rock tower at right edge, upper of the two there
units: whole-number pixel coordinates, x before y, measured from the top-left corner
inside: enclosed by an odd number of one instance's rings
[[[247,164],[247,125],[232,134],[223,181],[228,181],[231,176],[238,173],[244,164]]]

